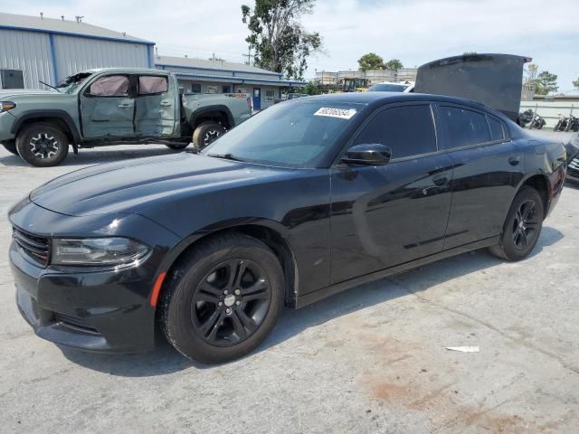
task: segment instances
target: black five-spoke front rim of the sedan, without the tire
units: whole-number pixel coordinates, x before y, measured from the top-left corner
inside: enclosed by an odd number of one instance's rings
[[[215,346],[239,344],[263,323],[271,303],[267,274],[249,259],[228,259],[201,280],[191,304],[195,332]]]

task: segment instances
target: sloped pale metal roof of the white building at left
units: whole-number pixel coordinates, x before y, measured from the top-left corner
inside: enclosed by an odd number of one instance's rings
[[[89,38],[154,44],[126,33],[116,32],[96,25],[77,23],[76,20],[62,20],[40,16],[0,13],[0,29],[14,29],[32,32],[67,34]]]

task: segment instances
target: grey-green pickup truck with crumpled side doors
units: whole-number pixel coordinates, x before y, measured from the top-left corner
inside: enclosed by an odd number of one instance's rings
[[[51,87],[50,85],[43,83]],[[252,116],[245,93],[179,94],[169,71],[82,71],[52,90],[0,91],[0,143],[39,167],[59,165],[69,146],[161,143],[201,149]]]

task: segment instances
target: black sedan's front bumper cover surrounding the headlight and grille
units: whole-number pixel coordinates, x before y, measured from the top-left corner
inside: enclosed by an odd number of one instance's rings
[[[21,231],[30,231],[33,227],[34,234],[43,237],[47,228],[79,225],[86,226],[84,236],[95,236],[95,231],[99,232],[95,228],[111,220],[107,216],[66,216],[27,201],[16,208],[19,209],[10,213],[14,227]],[[13,239],[9,257],[16,302],[36,335],[55,344],[93,352],[131,353],[154,347],[155,307],[151,306],[150,297],[168,250],[166,242],[159,239],[173,240],[175,235],[167,234],[157,223],[134,214],[122,219],[128,222],[121,226],[149,234],[147,244],[153,250],[136,266],[117,269],[44,266],[33,260]],[[71,235],[71,232],[66,233],[66,236]],[[53,236],[59,236],[58,232]]]

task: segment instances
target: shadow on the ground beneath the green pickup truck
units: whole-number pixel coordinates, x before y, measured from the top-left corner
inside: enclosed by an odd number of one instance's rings
[[[181,150],[173,150],[166,146],[153,145],[147,147],[147,145],[141,145],[145,147],[135,147],[134,149],[127,149],[125,146],[123,149],[115,149],[115,146],[110,146],[105,148],[92,148],[92,149],[81,149],[78,155],[74,155],[72,152],[66,157],[66,159],[59,166],[68,165],[99,165],[100,163],[110,163],[113,161],[140,158],[143,156],[166,156],[170,154],[176,154],[181,152]],[[8,154],[6,156],[0,157],[0,165],[14,166],[14,167],[32,167],[26,163],[20,156],[14,156]]]

